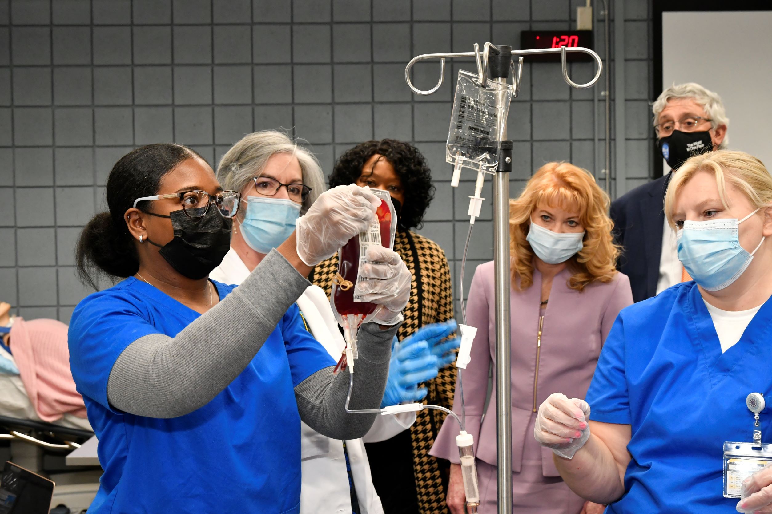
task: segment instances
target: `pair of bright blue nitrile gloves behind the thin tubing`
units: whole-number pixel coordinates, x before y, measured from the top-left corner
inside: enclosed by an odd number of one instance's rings
[[[435,378],[440,368],[455,359],[452,353],[459,347],[458,339],[440,343],[456,329],[455,321],[429,324],[419,328],[402,341],[391,343],[386,391],[381,408],[398,405],[405,401],[421,401],[427,395],[426,388],[418,384]],[[446,355],[447,354],[447,355]]]

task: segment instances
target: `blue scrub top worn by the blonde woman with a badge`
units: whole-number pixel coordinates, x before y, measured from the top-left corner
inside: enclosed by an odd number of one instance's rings
[[[753,442],[752,392],[772,392],[772,301],[725,353],[694,282],[621,311],[587,391],[590,419],[631,425],[625,495],[606,512],[735,512],[723,443]],[[772,442],[770,409],[762,442]]]

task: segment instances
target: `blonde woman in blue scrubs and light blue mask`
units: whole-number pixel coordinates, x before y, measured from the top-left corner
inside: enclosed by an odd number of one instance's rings
[[[623,309],[586,401],[551,395],[534,435],[607,512],[772,512],[769,469],[730,473],[735,498],[723,476],[725,442],[772,442],[769,410],[756,426],[746,405],[772,393],[772,176],[747,153],[692,157],[665,215],[693,281]]]

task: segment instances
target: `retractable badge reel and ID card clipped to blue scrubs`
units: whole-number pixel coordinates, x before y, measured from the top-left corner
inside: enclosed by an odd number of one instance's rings
[[[743,480],[772,464],[772,445],[761,442],[760,414],[767,407],[764,395],[750,393],[745,405],[753,413],[753,442],[725,442],[723,448],[723,496],[741,498]]]

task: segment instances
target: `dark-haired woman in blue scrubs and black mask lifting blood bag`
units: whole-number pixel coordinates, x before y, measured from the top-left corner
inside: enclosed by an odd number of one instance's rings
[[[295,301],[378,200],[363,188],[324,193],[297,223],[300,237],[289,234],[235,288],[208,275],[229,251],[240,200],[185,146],[142,146],[110,172],[110,210],[83,230],[77,261],[92,285],[97,274],[125,280],[81,301],[68,334],[104,469],[92,514],[297,514],[300,420],[337,438],[374,421],[345,413],[348,374],[332,375]],[[401,262],[375,267],[409,274]],[[395,332],[363,325],[352,408],[380,406]]]

